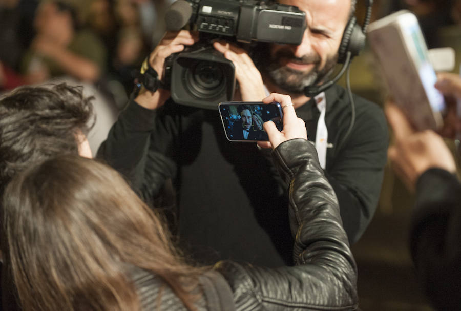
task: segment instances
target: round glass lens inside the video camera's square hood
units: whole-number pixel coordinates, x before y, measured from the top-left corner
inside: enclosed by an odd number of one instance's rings
[[[198,98],[214,98],[224,92],[225,75],[219,63],[197,61],[184,74],[188,91]]]

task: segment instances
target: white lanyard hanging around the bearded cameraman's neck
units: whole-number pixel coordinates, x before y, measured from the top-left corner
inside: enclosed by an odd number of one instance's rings
[[[266,95],[269,96],[270,92],[264,85]],[[317,103],[317,108],[320,111],[319,120],[317,121],[316,132],[316,150],[319,155],[320,167],[325,170],[326,166],[326,151],[328,147],[328,130],[325,124],[325,111],[326,111],[326,97],[325,92],[320,93],[314,97]]]

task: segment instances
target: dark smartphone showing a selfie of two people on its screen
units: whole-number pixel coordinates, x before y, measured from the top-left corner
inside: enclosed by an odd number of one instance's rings
[[[283,129],[282,107],[279,102],[223,101],[218,105],[222,126],[230,141],[268,141],[263,123],[273,121]]]

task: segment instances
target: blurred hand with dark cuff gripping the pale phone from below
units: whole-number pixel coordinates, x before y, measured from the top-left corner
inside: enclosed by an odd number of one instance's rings
[[[430,130],[416,132],[394,103],[386,104],[386,116],[395,137],[388,156],[409,190],[414,190],[418,177],[430,168],[456,172],[453,156],[441,136]]]

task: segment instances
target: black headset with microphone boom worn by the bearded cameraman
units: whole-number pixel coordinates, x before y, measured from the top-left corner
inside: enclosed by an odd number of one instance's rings
[[[365,47],[365,33],[368,24],[370,23],[373,0],[367,0],[366,4],[365,20],[362,28],[357,24],[357,18],[352,16],[349,18],[346,28],[344,29],[343,37],[341,38],[340,47],[338,49],[338,64],[343,64],[340,72],[333,79],[326,81],[320,86],[304,87],[304,95],[307,97],[313,97],[336,83],[346,71],[352,58],[359,55],[360,51],[362,51]]]

